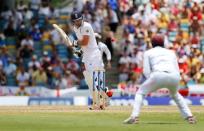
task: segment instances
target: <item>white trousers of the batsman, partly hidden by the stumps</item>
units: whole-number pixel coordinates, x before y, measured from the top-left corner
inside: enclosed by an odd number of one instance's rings
[[[93,93],[93,71],[104,70],[104,64],[102,59],[94,59],[90,61],[84,61],[85,71],[83,72],[85,81],[89,87],[90,94]],[[92,95],[90,95],[92,97]]]

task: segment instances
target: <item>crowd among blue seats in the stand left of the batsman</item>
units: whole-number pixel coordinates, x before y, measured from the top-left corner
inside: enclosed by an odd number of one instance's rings
[[[0,85],[70,88],[80,84],[80,62],[52,23],[67,27],[68,14],[48,0],[16,3],[0,15]]]

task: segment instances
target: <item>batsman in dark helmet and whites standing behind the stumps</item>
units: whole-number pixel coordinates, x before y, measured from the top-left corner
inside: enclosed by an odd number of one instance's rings
[[[102,60],[102,54],[97,45],[93,28],[88,22],[83,21],[83,16],[78,11],[72,12],[71,21],[73,24],[73,30],[78,38],[77,42],[75,43],[81,47],[83,52],[82,62],[84,63],[85,67],[83,75],[89,87],[93,102],[90,109],[104,109],[104,105],[100,103],[100,98],[96,98],[98,95],[97,91],[101,90],[101,86],[104,89],[103,93],[107,89],[105,89],[105,70]],[[103,71],[102,75],[101,73],[99,73],[99,71]],[[98,75],[94,76],[94,74],[97,73]],[[95,82],[97,80],[100,80],[100,84]],[[96,90],[93,86],[96,86],[98,90]],[[100,97],[105,96],[101,95]]]

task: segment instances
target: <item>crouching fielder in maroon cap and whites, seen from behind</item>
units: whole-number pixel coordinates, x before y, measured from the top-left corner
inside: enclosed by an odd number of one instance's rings
[[[153,36],[152,46],[152,49],[144,53],[143,73],[147,79],[137,91],[132,114],[124,123],[137,124],[145,95],[164,87],[169,89],[171,97],[176,102],[184,119],[190,124],[196,123],[196,119],[193,117],[184,98],[177,91],[180,73],[175,53],[164,48],[162,35]]]

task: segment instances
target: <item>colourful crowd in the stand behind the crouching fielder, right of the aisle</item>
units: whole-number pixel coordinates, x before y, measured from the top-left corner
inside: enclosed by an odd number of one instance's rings
[[[175,51],[181,73],[180,86],[204,84],[204,1],[151,0],[142,4],[123,1],[119,81],[143,79],[143,52],[151,48],[151,36],[161,33],[165,46]],[[138,79],[137,82],[139,82]]]

